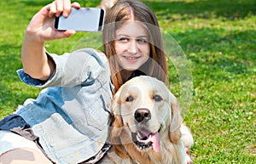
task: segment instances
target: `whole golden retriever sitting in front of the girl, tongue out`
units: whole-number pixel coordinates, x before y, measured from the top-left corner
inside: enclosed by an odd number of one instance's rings
[[[190,147],[193,138],[182,123],[177,99],[163,82],[134,77],[119,88],[112,107],[113,148],[100,163],[189,163],[184,144]]]

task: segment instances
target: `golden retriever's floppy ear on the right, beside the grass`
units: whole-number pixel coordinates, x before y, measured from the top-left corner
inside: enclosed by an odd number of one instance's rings
[[[179,105],[177,99],[171,93],[171,124],[169,127],[169,137],[172,143],[177,144],[179,139],[181,139],[180,126],[182,123],[182,116],[180,114]]]

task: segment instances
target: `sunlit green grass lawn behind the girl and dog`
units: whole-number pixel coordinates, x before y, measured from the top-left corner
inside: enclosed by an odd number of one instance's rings
[[[39,90],[20,82],[20,48],[32,15],[46,0],[0,1],[0,117]],[[79,1],[96,6],[97,1]],[[256,163],[256,3],[253,0],[151,0],[163,31],[183,49],[193,77],[184,122],[191,128],[194,163]],[[80,48],[85,35],[47,42],[49,52]],[[86,44],[90,46],[90,44]],[[86,46],[84,44],[84,47]],[[180,98],[178,73],[169,62],[172,92]]]

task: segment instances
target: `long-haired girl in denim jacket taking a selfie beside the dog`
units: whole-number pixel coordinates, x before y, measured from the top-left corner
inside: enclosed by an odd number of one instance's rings
[[[17,72],[26,84],[44,89],[0,122],[3,163],[95,162],[110,147],[112,94],[133,76],[154,76],[167,84],[158,21],[137,0],[120,1],[106,15],[104,54],[92,48],[49,54],[45,41],[75,33],[53,27],[55,17],[67,17],[71,7],[80,8],[79,3],[55,0],[26,28],[23,69]]]

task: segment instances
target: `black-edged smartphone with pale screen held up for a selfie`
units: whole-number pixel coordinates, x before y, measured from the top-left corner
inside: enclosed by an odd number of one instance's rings
[[[105,11],[102,8],[71,8],[67,18],[55,17],[55,29],[59,31],[102,31]]]

